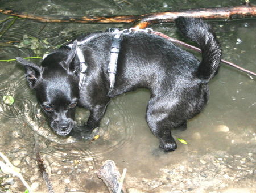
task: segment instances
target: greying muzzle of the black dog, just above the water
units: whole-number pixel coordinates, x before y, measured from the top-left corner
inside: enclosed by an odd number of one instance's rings
[[[51,127],[53,128],[53,130],[61,136],[66,136],[68,135],[72,128],[76,125],[76,122],[73,121],[72,119],[68,119],[65,122],[59,122],[59,121],[52,121],[51,122]]]

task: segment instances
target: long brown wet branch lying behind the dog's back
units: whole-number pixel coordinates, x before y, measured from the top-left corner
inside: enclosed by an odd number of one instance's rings
[[[239,19],[256,17],[256,6],[250,3],[234,7],[196,8],[190,10],[156,12],[143,15],[117,15],[98,17],[68,17],[51,18],[16,12],[11,9],[0,9],[1,14],[17,16],[23,19],[32,19],[46,23],[138,23],[138,28],[146,28],[150,24],[174,22],[179,16],[204,19]]]

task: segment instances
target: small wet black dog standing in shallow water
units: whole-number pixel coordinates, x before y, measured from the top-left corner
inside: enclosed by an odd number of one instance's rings
[[[75,107],[90,110],[85,130],[98,127],[110,98],[137,88],[148,88],[146,120],[164,151],[177,148],[171,129],[187,126],[187,119],[207,104],[208,82],[216,75],[221,60],[220,45],[208,24],[200,19],[178,18],[177,28],[202,50],[202,61],[166,39],[148,33],[123,34],[114,88],[109,92],[108,63],[113,33],[93,33],[80,46],[88,65],[79,89],[80,62],[72,48],[63,46],[48,55],[41,66],[17,58],[26,68],[26,78],[49,124],[59,135],[75,127]],[[93,36],[92,36],[93,35]]]

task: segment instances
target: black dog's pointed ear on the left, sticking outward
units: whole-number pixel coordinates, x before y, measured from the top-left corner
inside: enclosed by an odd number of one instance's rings
[[[24,58],[16,57],[17,61],[21,63],[26,69],[26,79],[30,88],[35,88],[36,82],[42,77],[43,67],[38,66]]]

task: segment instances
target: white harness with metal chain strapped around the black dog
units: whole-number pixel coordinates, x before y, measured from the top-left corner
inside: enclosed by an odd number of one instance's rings
[[[136,33],[136,32],[150,33],[152,32],[152,29],[151,28],[146,28],[146,29],[129,28],[129,29],[123,29],[121,31],[119,29],[110,28],[109,32],[114,35],[112,38],[112,44],[110,48],[110,59],[109,59],[109,65],[108,65],[109,82],[110,82],[109,93],[110,93],[113,90],[114,84],[115,84],[115,74],[117,72],[117,59],[118,59],[118,54],[120,50],[121,35],[122,34],[126,35],[126,34]],[[87,65],[85,63],[84,54],[82,53],[82,50],[79,46],[93,40],[93,38],[95,38],[96,36],[97,35],[92,35],[87,37],[85,40],[77,41],[76,54],[80,62],[79,89],[81,89],[82,87],[82,83],[84,82],[85,74],[87,72]],[[67,46],[69,48],[72,48],[73,44],[68,44]],[[46,55],[44,55],[43,58],[45,57]]]

